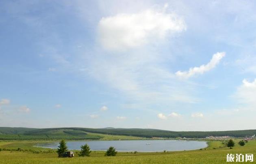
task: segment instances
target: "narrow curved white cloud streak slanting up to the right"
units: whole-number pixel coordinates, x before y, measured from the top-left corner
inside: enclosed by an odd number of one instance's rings
[[[225,56],[225,52],[217,52],[213,55],[213,58],[206,65],[201,65],[200,67],[189,68],[189,71],[178,71],[175,74],[178,77],[189,78],[197,74],[203,74],[209,70],[215,68],[219,64],[220,60]]]

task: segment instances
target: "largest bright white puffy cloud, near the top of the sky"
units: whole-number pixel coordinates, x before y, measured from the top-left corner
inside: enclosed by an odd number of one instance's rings
[[[166,6],[165,6],[166,8]],[[103,17],[98,24],[100,42],[113,51],[138,47],[186,30],[182,18],[174,13],[148,9],[136,14]]]

